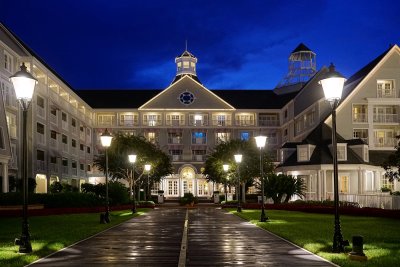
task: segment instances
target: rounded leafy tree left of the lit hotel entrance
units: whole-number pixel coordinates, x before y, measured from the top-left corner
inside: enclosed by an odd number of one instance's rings
[[[131,178],[132,164],[128,161],[128,155],[137,155],[135,162],[135,180]],[[147,179],[142,179],[144,175],[144,165],[151,164],[152,169],[149,173],[149,187],[155,182],[159,182],[162,177],[172,173],[170,158],[153,143],[147,141],[143,136],[133,136],[128,134],[115,134],[111,146],[108,148],[108,170],[112,180],[125,179],[135,187],[139,183],[144,185]],[[105,154],[95,157],[94,165],[100,171],[105,171]],[[147,177],[147,176],[146,176]],[[149,192],[147,192],[149,194]]]

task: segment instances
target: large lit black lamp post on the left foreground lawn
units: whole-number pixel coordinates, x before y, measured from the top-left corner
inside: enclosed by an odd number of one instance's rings
[[[14,86],[15,95],[22,108],[22,233],[20,238],[15,239],[15,244],[19,245],[20,253],[31,253],[31,236],[29,233],[28,223],[28,141],[27,141],[27,118],[28,108],[32,101],[33,92],[37,80],[27,72],[24,63],[21,65],[21,70],[10,77]]]

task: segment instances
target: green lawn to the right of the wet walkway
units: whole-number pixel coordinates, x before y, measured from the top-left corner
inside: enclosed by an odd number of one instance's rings
[[[399,220],[341,216],[343,238],[349,240],[350,247],[346,248],[346,253],[336,254],[331,252],[333,215],[268,210],[269,221],[261,223],[259,210],[243,210],[241,214],[234,209],[230,211],[340,266],[383,267],[400,264]],[[351,251],[353,235],[364,237],[364,253],[368,257],[366,262],[351,261],[347,257],[347,253]]]

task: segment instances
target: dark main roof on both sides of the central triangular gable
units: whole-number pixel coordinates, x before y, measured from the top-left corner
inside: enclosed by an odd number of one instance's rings
[[[75,90],[92,108],[139,108],[162,90]],[[211,90],[237,109],[279,109],[296,93],[277,95],[271,90]]]

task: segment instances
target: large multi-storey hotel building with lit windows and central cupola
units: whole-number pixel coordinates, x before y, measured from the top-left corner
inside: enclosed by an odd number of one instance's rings
[[[259,133],[268,137],[277,170],[306,181],[308,199],[333,198],[331,108],[318,83],[328,69],[317,71],[316,55],[304,44],[290,54],[288,75],[274,90],[210,90],[189,51],[175,58],[176,75],[166,88],[74,90],[3,24],[0,53],[3,192],[9,190],[8,177],[20,176],[20,113],[8,78],[24,62],[39,80],[29,115],[29,174],[37,192],[47,192],[53,181],[75,187],[102,181],[92,162],[107,128],[143,135],[170,155],[174,173],[153,188],[167,198],[188,191],[211,197],[216,188],[201,172],[207,155],[220,142]],[[345,84],[337,109],[342,198],[379,195],[381,187],[399,190],[379,166],[400,133],[398,81],[400,49],[394,45]]]

